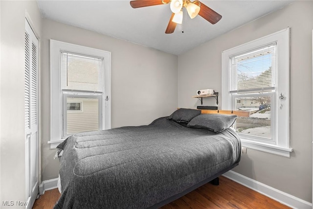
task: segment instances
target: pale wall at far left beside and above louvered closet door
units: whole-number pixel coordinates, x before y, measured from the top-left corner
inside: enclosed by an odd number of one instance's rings
[[[0,204],[25,195],[25,11],[41,36],[36,1],[0,1]],[[12,206],[1,208],[12,208]]]

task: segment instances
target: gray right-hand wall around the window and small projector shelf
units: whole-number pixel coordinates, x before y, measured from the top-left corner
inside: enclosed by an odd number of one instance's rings
[[[291,27],[291,147],[294,151],[289,159],[248,149],[233,170],[311,202],[313,1],[293,2],[180,55],[178,106],[200,105],[198,99],[192,98],[199,89],[221,92],[222,51],[288,26]],[[214,98],[203,101],[203,105],[215,104]]]

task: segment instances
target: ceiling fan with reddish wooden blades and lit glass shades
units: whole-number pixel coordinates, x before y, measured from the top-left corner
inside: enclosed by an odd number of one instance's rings
[[[172,16],[167,25],[165,33],[173,33],[177,23],[182,23],[182,8],[185,7],[188,15],[191,19],[195,18],[197,15],[200,15],[202,18],[208,22],[215,24],[219,22],[222,18],[222,15],[215,12],[213,9],[209,8],[205,4],[201,3],[199,0],[191,2],[190,0],[131,0],[131,6],[133,8],[140,8],[145,6],[155,6],[160,4],[170,3],[170,8]]]

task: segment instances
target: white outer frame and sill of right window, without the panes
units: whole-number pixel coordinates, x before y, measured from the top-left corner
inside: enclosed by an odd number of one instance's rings
[[[276,89],[273,96],[274,115],[271,118],[271,127],[275,130],[273,141],[262,140],[253,136],[238,133],[241,138],[242,146],[288,157],[292,148],[290,147],[290,28],[283,29],[268,36],[248,42],[246,44],[230,48],[222,53],[222,109],[232,109],[232,95],[229,93],[229,58],[235,54],[240,54],[260,46],[270,43],[277,44],[277,76]],[[280,95],[284,98],[280,99]],[[253,138],[253,139],[252,139]]]

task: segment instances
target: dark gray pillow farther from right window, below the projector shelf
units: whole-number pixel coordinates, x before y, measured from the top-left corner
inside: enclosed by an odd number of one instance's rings
[[[201,110],[179,108],[168,118],[179,123],[188,123],[192,118],[199,116],[200,114]]]

